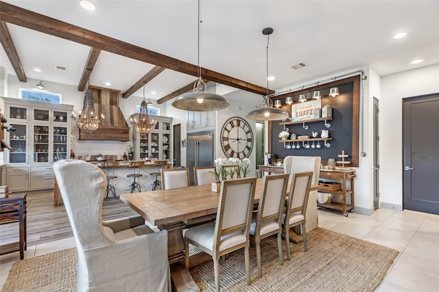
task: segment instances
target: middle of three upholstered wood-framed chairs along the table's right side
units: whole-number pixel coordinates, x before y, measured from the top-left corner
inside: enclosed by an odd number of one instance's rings
[[[256,214],[253,213],[250,225],[250,239],[256,246],[258,277],[262,275],[261,239],[277,234],[279,264],[283,265],[281,220],[285,209],[288,176],[289,174],[275,174],[263,177],[258,211]]]

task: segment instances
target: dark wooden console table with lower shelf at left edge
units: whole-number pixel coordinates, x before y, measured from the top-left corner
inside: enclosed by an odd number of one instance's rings
[[[1,245],[0,254],[10,254],[20,251],[20,259],[24,258],[27,250],[26,231],[26,193],[10,194],[6,198],[0,198],[0,224],[19,222],[20,239],[18,242]]]

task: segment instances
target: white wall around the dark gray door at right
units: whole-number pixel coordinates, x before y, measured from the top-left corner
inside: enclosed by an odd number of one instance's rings
[[[439,64],[381,77],[379,98],[381,204],[403,203],[403,98],[439,92]]]

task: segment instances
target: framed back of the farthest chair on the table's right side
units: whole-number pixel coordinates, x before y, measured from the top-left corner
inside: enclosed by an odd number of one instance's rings
[[[287,211],[285,212],[287,218],[289,218],[289,214],[296,212],[301,212],[305,216],[312,176],[312,172],[296,172],[293,174],[293,180],[289,187]]]

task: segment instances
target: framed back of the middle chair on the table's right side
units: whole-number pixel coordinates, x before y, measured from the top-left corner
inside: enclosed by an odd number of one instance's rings
[[[281,228],[281,217],[285,209],[289,174],[274,174],[263,177],[261,198],[259,198],[255,235],[263,222],[278,220]]]

